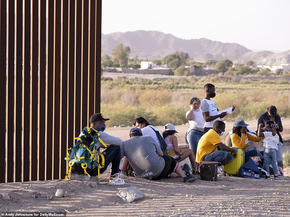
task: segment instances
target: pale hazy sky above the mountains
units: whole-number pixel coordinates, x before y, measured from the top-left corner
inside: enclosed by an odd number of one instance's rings
[[[290,50],[290,0],[103,0],[102,33],[158,30],[178,38]]]

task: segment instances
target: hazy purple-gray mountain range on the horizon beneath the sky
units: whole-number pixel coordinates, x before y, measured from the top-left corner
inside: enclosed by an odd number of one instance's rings
[[[222,43],[206,38],[186,40],[159,31],[144,30],[102,34],[102,55],[111,55],[112,49],[119,43],[130,47],[130,56],[137,55],[140,58],[163,58],[175,51],[184,51],[196,61],[230,59],[238,63],[253,60],[256,64],[265,65],[290,63],[290,50],[283,53],[253,52],[237,43]]]

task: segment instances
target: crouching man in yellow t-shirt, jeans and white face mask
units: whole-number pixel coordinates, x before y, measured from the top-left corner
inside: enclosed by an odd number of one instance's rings
[[[224,122],[215,121],[213,128],[200,138],[197,145],[196,162],[216,161],[225,165],[233,161],[236,151],[225,146],[220,138],[224,134],[225,127]],[[215,151],[216,148],[218,148],[217,151]],[[234,155],[227,152],[232,152]]]

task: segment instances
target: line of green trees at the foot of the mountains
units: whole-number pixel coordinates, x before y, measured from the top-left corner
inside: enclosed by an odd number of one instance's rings
[[[174,75],[184,75],[189,74],[189,69],[185,68],[184,65],[194,65],[198,68],[211,68],[215,69],[218,73],[223,73],[225,75],[247,75],[247,74],[257,74],[257,75],[271,75],[272,72],[268,68],[260,69],[255,67],[255,62],[252,60],[247,60],[244,65],[239,67],[233,67],[233,62],[229,59],[207,59],[205,62],[196,62],[193,58],[190,58],[188,53],[183,51],[176,51],[175,53],[169,54],[164,58],[157,59],[141,59],[138,56],[129,57],[131,53],[129,46],[123,46],[123,44],[117,44],[116,48],[112,50],[112,56],[103,55],[101,57],[102,67],[132,67],[140,68],[140,62],[150,61],[156,63],[156,65],[167,65],[167,67],[172,68]],[[194,74],[194,72],[193,72]],[[278,75],[289,75],[289,72],[285,72],[283,69],[277,69],[276,74]],[[196,74],[198,75],[198,74]]]

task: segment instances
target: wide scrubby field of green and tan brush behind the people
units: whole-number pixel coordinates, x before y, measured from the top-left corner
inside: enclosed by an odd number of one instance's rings
[[[223,120],[258,119],[271,104],[281,117],[290,117],[290,88],[284,79],[236,80],[236,78],[189,76],[183,79],[149,80],[142,78],[101,79],[101,112],[110,116],[108,126],[132,125],[143,116],[154,125],[171,122],[185,124],[186,111],[192,96],[203,98],[203,86],[216,86],[214,101],[220,110],[236,106]]]

